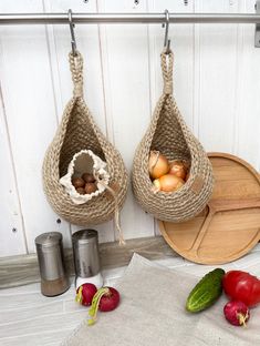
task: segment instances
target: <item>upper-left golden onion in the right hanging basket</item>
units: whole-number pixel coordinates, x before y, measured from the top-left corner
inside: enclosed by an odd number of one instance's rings
[[[152,150],[149,153],[148,171],[152,179],[158,179],[168,173],[168,160],[159,153],[159,151]]]

